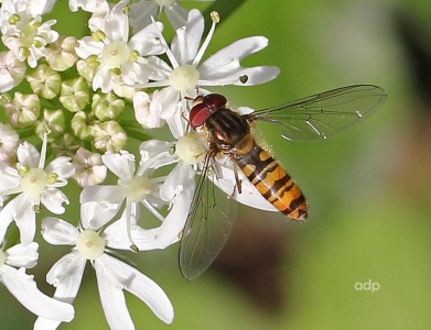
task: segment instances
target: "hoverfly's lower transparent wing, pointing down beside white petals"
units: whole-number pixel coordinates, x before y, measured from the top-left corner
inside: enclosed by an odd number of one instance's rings
[[[208,178],[216,176],[211,152],[204,164],[180,243],[180,268],[190,280],[204,273],[222,251],[236,212],[236,200]]]

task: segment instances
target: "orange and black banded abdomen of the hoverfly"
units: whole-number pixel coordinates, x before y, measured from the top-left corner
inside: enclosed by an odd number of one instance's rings
[[[293,220],[306,220],[304,196],[284,168],[256,142],[251,151],[233,157],[259,193]]]

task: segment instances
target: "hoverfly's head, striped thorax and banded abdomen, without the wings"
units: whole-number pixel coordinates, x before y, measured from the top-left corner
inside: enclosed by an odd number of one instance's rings
[[[293,220],[305,220],[304,196],[282,166],[251,136],[252,118],[225,108],[226,99],[217,94],[204,97],[200,105],[192,110],[191,122],[195,129],[195,117],[212,109],[204,125],[211,148],[227,154],[277,209]]]

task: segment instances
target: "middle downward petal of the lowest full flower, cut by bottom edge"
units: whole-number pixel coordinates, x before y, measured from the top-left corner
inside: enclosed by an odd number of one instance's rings
[[[95,261],[97,286],[106,320],[111,330],[134,329],[122,288],[112,278],[110,258],[104,254]]]

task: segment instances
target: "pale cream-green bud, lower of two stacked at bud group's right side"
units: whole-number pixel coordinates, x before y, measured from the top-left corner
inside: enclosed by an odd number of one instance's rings
[[[117,153],[126,147],[127,134],[114,120],[93,127],[95,147],[100,152]]]

